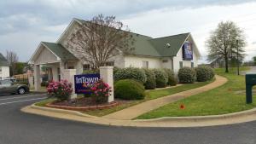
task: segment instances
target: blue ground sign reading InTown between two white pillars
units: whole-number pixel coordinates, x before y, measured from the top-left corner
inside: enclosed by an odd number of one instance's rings
[[[91,94],[90,86],[100,79],[100,74],[74,75],[75,93]]]

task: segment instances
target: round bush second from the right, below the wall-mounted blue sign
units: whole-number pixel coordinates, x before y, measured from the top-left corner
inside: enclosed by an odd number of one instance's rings
[[[177,77],[182,84],[192,84],[196,80],[196,72],[193,68],[183,67],[178,70]]]

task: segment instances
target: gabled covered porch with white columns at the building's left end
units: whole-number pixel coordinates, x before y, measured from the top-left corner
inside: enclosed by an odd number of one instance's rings
[[[81,61],[58,43],[40,43],[29,63],[33,65],[34,88],[36,91],[41,88],[42,66],[47,69],[48,81],[65,79],[65,69],[75,69],[77,74],[83,72]]]

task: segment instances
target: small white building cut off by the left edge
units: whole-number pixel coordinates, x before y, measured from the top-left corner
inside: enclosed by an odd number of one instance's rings
[[[0,80],[9,77],[9,63],[0,53]]]

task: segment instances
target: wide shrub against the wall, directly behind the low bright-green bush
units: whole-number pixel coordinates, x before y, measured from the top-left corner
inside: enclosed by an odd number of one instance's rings
[[[121,68],[114,73],[114,80],[118,81],[120,79],[136,79],[137,81],[146,83],[147,77],[143,69],[135,67]]]

